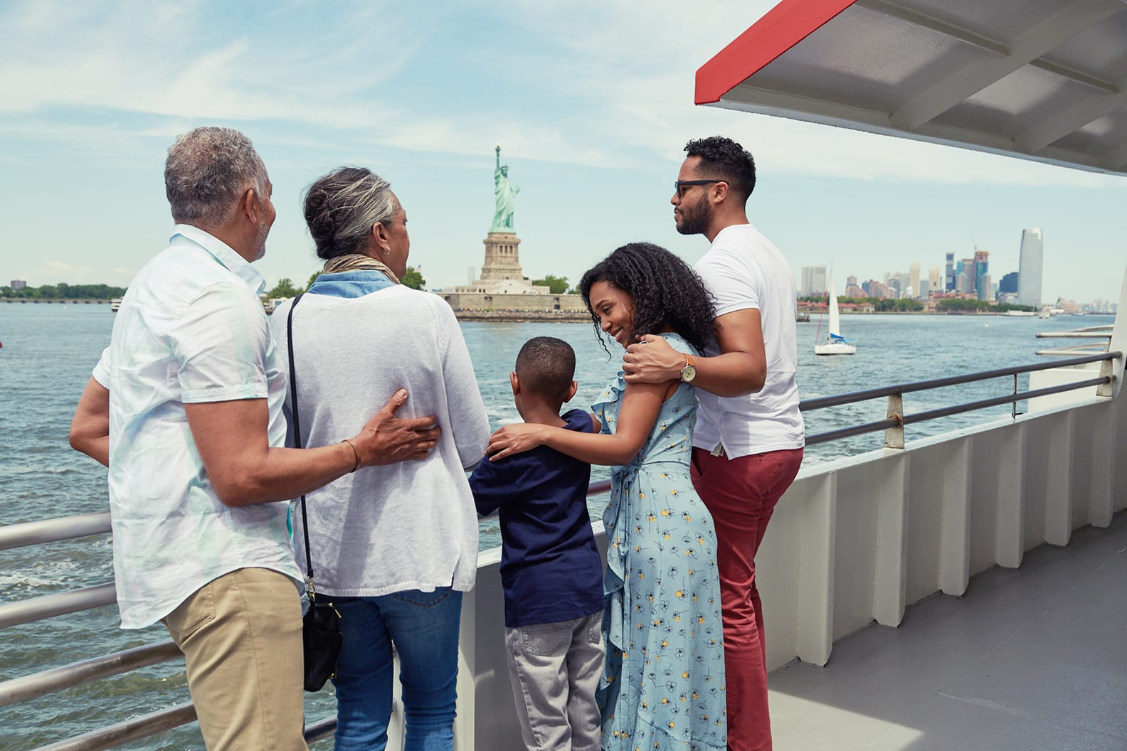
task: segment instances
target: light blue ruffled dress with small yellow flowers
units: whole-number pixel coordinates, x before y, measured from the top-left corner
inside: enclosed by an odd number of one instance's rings
[[[675,333],[677,351],[696,355]],[[592,409],[613,433],[622,373]],[[633,462],[611,472],[603,513],[603,749],[724,751],[727,717],[712,517],[689,476],[696,396],[681,384]]]

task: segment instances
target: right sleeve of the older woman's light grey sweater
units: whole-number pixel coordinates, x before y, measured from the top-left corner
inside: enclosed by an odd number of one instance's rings
[[[477,376],[473,375],[470,350],[465,347],[454,311],[437,298],[435,305],[433,310],[438,319],[442,373],[450,410],[449,429],[454,433],[459,461],[463,467],[469,468],[481,461],[486,446],[489,445],[489,415],[481,402],[481,391],[478,388]]]

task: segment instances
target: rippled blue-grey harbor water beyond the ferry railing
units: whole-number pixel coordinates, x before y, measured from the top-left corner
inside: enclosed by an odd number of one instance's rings
[[[109,339],[114,314],[108,305],[0,304],[0,524],[89,513],[106,509],[106,473],[66,442],[70,419],[90,369]],[[845,334],[859,343],[849,357],[816,357],[817,320],[798,324],[799,390],[804,399],[881,385],[973,373],[1036,361],[1038,331],[1111,323],[1109,316],[1059,316],[1051,320],[1006,316],[846,315]],[[552,336],[576,350],[579,391],[571,404],[587,406],[618,373],[619,354],[609,357],[592,328],[578,323],[463,323],[478,383],[496,428],[517,420],[508,372],[521,345]],[[1049,346],[1053,342],[1048,342]],[[1026,388],[1028,377],[1019,378]],[[904,397],[908,414],[1008,393],[1012,378],[952,386]],[[907,439],[1009,414],[999,406],[909,426]],[[1019,406],[1019,410],[1021,408]],[[813,435],[885,417],[885,400],[806,414]],[[807,464],[879,448],[881,433],[810,447]],[[596,467],[594,477],[607,476]],[[592,499],[593,518],[603,499]],[[499,544],[496,520],[481,526],[482,547]],[[109,581],[112,543],[107,536],[0,552],[0,601],[14,601]],[[163,641],[161,626],[141,632],[116,628],[116,607],[28,624],[2,632],[0,680]],[[11,751],[35,746],[99,727],[113,718],[153,712],[187,700],[183,663],[147,668],[128,676],[95,681],[62,694],[0,708],[2,745]],[[334,712],[330,689],[307,695],[307,718]],[[177,728],[123,748],[203,748],[195,726]],[[314,749],[331,748],[331,741]]]

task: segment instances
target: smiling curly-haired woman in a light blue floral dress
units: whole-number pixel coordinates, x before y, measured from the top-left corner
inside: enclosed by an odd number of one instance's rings
[[[662,336],[691,366],[715,337],[700,278],[657,245],[619,248],[584,275],[579,290],[596,328],[622,347]],[[614,466],[603,515],[609,644],[600,704],[607,751],[727,745],[716,535],[689,475],[691,379],[691,367],[666,384],[627,384],[619,373],[593,406],[598,435],[506,426],[487,452],[500,458],[545,445]]]

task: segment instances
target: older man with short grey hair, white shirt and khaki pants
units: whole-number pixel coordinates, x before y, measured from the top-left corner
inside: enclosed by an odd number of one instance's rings
[[[243,134],[201,127],[169,149],[165,187],[171,240],[130,284],[71,445],[109,467],[122,627],[168,628],[207,748],[302,750],[300,573],[277,501],[423,458],[438,430],[394,417],[400,390],[360,433],[284,448],[284,364],[250,266],[275,217],[266,167]]]

